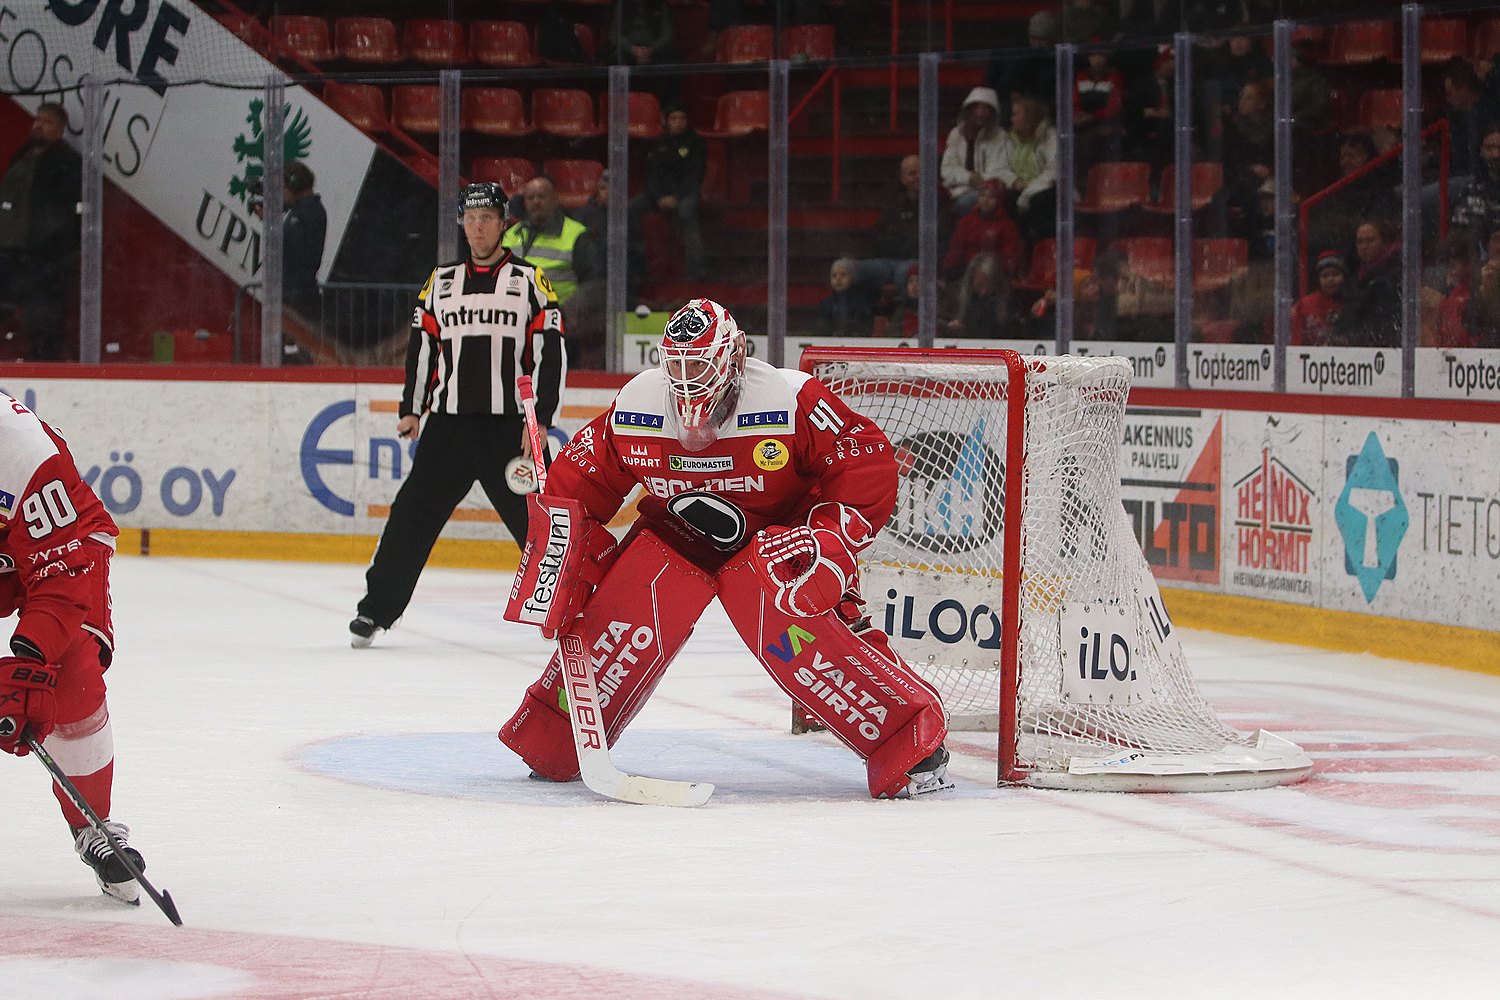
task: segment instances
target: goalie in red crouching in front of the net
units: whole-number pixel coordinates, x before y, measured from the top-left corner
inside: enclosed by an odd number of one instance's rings
[[[552,463],[506,618],[582,640],[612,744],[717,597],[766,673],[866,760],[872,796],[951,787],[938,693],[861,613],[855,558],[896,505],[890,441],[822,382],[747,357],[706,298],[672,315],[660,351]],[[603,525],[636,486],[615,546]],[[554,655],[500,732],[552,781],[579,769],[561,696]]]

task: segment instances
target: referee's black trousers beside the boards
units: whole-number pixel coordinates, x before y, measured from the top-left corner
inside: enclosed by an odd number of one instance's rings
[[[396,490],[386,531],[364,573],[360,615],[381,628],[390,628],[402,616],[434,543],[476,480],[516,544],[526,544],[526,498],[506,486],[506,465],[520,454],[525,426],[520,415],[428,417],[411,474]]]

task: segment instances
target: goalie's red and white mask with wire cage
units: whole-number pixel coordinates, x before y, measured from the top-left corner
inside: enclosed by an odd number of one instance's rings
[[[729,310],[694,298],[666,321],[662,372],[672,396],[678,439],[705,448],[734,411],[746,369],[746,334]]]

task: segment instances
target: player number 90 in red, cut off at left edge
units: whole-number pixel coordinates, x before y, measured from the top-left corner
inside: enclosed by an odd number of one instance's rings
[[[20,612],[0,658],[0,750],[22,757],[32,735],[100,817],[110,816],[114,735],[104,672],[114,654],[110,556],[118,528],[80,478],[66,442],[0,393],[0,615]],[[99,888],[140,903],[140,885],[57,784],[74,849]],[[105,820],[122,844],[129,829]],[[140,852],[124,852],[141,871]]]

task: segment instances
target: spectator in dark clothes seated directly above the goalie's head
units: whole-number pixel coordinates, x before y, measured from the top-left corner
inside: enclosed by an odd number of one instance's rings
[[[698,208],[702,198],[704,171],[708,168],[708,144],[687,121],[681,105],[662,109],[663,132],[646,150],[645,190],[630,199],[630,271],[639,286],[646,270],[645,214],[660,211],[675,216],[682,231],[682,253],[687,277],[705,280],[704,235]]]

